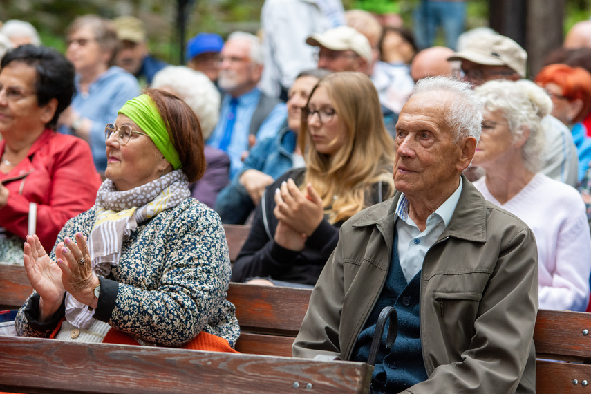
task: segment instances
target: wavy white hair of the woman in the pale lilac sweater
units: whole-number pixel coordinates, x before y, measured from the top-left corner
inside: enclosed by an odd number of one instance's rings
[[[514,138],[529,129],[529,138],[522,147],[525,168],[541,169],[541,152],[545,142],[542,119],[552,111],[552,100],[543,88],[527,79],[517,82],[496,79],[476,88],[476,95],[487,111],[502,111]]]

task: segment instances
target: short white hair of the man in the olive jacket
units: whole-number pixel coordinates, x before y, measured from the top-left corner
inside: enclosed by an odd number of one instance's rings
[[[449,111],[445,113],[447,126],[456,133],[454,140],[459,142],[463,138],[473,137],[480,140],[482,129],[482,103],[470,84],[460,82],[451,77],[426,77],[415,85],[414,95],[422,93],[445,92],[456,96]]]

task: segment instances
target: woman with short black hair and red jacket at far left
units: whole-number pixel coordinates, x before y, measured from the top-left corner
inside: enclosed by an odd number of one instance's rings
[[[18,263],[29,223],[50,249],[66,221],[92,207],[100,177],[86,142],[55,133],[74,93],[72,64],[22,45],[0,67],[0,261]]]

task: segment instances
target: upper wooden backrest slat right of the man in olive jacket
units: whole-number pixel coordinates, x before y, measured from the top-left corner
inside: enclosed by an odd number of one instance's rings
[[[591,313],[538,310],[534,342],[538,358],[591,362]]]

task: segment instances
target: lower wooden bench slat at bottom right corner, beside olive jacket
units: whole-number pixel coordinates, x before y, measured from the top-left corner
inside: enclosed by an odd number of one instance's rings
[[[573,380],[577,384],[573,384]],[[587,381],[587,386],[581,384]],[[536,394],[588,394],[591,391],[591,365],[561,362],[536,362]]]

